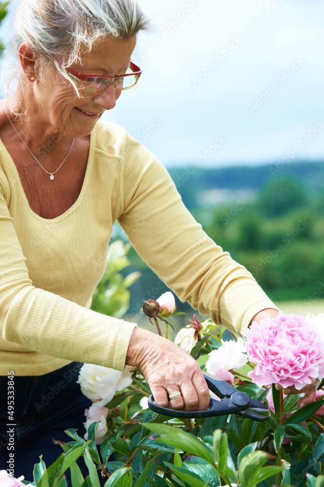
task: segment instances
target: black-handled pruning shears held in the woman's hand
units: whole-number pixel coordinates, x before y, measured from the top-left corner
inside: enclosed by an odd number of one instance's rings
[[[221,398],[220,401],[210,398],[209,407],[206,411],[177,411],[174,409],[162,408],[154,402],[154,397],[148,399],[148,406],[152,411],[172,416],[173,418],[209,418],[211,416],[224,416],[227,414],[238,414],[254,421],[266,421],[269,416],[257,414],[252,411],[269,412],[268,406],[256,399],[240,392],[214,375],[203,372],[208,389]]]

